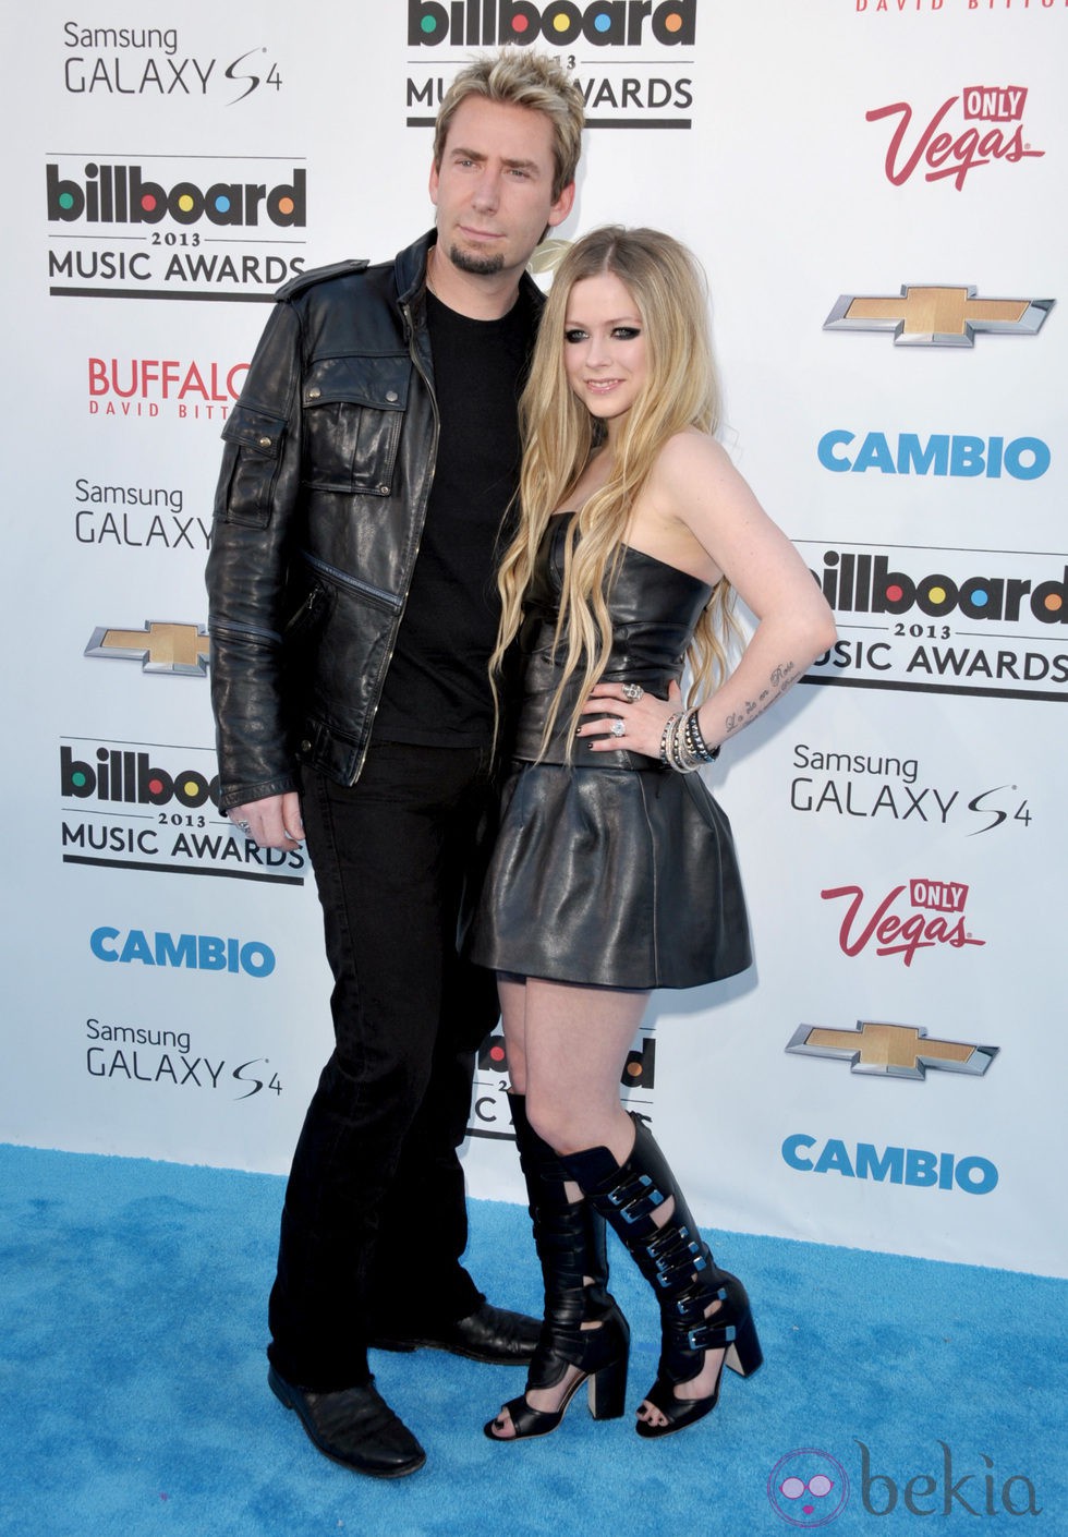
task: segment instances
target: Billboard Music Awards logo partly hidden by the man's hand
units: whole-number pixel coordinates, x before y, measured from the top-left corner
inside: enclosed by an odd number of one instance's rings
[[[218,810],[215,753],[161,742],[60,744],[63,864],[303,885],[301,848],[260,848]]]

